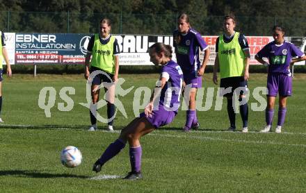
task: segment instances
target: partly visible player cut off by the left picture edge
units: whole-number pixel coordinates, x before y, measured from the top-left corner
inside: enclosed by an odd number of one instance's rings
[[[2,68],[2,57],[4,58],[4,60],[6,61],[6,74],[8,74],[8,77],[12,76],[12,69],[10,69],[10,60],[8,60],[8,53],[6,52],[6,42],[5,42],[5,38],[4,38],[4,33],[2,33],[0,31],[0,47],[2,49],[0,49],[0,115],[1,115],[1,109],[2,109],[2,72],[3,72],[3,68]],[[0,123],[3,123],[3,120],[0,118]]]

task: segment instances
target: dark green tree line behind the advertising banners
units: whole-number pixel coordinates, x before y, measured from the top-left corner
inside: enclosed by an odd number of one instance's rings
[[[5,32],[96,33],[99,19],[112,21],[112,33],[171,35],[186,12],[203,35],[222,33],[223,17],[236,16],[245,35],[271,35],[275,24],[288,36],[306,36],[305,0],[0,0]]]

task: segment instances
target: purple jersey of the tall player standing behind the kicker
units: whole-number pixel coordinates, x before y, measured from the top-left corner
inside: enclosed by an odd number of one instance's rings
[[[207,49],[207,43],[193,28],[190,28],[185,35],[180,34],[177,30],[174,31],[173,41],[177,63],[182,67],[184,76],[197,77],[198,69],[200,69],[200,50]]]

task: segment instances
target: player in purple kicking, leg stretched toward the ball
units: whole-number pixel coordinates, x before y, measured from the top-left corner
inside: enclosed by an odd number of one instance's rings
[[[177,115],[179,108],[179,95],[182,92],[183,72],[179,65],[171,60],[172,48],[163,43],[153,44],[149,49],[150,60],[154,65],[161,64],[161,78],[152,93],[150,103],[145,107],[145,112],[134,119],[122,129],[120,136],[110,144],[102,156],[95,162],[92,170],[101,171],[102,165],[116,156],[125,144],[129,142],[129,156],[131,172],[124,178],[135,180],[142,178],[140,172],[141,146],[139,139],[154,129],[170,124]],[[160,97],[159,97],[160,94]]]

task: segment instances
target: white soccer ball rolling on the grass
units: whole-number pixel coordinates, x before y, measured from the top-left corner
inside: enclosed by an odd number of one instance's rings
[[[61,162],[65,167],[77,167],[82,162],[82,153],[75,146],[66,146],[61,151]]]

